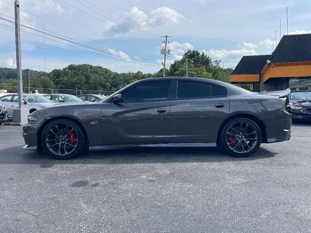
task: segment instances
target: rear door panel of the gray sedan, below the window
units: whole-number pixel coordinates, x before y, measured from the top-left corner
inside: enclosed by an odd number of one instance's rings
[[[218,130],[228,114],[227,97],[172,100],[171,142],[216,142]]]

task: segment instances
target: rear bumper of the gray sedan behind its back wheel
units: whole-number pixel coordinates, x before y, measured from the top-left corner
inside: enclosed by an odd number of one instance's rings
[[[275,115],[276,114],[276,115]],[[266,119],[267,143],[287,141],[291,138],[292,116],[287,111],[278,110],[276,117]]]

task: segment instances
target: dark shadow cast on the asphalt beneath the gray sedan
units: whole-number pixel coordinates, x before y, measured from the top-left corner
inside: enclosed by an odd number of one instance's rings
[[[13,151],[20,151],[12,154]],[[274,157],[277,153],[264,148],[246,158],[231,157],[217,148],[131,148],[86,151],[70,160],[55,160],[37,151],[12,147],[0,150],[0,164],[38,164],[48,168],[59,164],[160,164],[241,162]]]

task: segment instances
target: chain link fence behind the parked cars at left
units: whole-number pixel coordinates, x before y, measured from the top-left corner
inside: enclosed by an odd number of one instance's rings
[[[113,91],[96,91],[96,90],[79,90],[79,89],[49,89],[49,88],[35,88],[23,87],[24,93],[39,93],[39,94],[70,94],[74,96],[85,94],[97,94],[109,96]],[[17,86],[1,86],[0,93],[17,93]]]

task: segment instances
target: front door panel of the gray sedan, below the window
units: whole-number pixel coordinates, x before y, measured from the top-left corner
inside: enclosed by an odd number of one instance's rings
[[[104,103],[101,113],[104,144],[169,143],[170,102]]]

